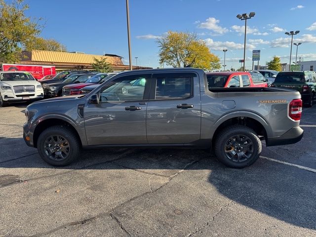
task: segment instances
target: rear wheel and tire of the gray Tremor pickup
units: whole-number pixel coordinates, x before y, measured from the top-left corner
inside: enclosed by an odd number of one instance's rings
[[[259,158],[261,149],[261,141],[254,130],[243,125],[232,125],[217,136],[214,150],[222,163],[232,168],[243,168]]]

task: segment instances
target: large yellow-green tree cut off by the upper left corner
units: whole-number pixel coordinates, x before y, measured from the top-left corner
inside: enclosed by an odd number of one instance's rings
[[[25,15],[29,8],[24,0],[12,0],[8,4],[0,0],[0,62],[20,61],[22,48],[28,48],[43,28],[41,19],[31,19]]]

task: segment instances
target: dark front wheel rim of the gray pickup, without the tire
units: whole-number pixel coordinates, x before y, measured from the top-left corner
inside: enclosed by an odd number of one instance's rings
[[[44,141],[44,152],[48,158],[63,160],[69,156],[70,145],[63,136],[51,135]]]

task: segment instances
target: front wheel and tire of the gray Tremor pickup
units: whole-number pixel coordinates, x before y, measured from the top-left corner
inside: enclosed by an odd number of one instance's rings
[[[38,151],[48,164],[65,166],[79,157],[80,142],[77,135],[67,126],[46,128],[39,136]]]

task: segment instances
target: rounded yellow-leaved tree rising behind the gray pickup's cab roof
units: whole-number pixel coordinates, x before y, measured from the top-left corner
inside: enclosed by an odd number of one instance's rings
[[[211,53],[197,34],[169,31],[158,38],[159,63],[172,67],[195,67],[205,71],[220,69],[220,59]]]

